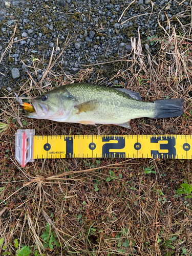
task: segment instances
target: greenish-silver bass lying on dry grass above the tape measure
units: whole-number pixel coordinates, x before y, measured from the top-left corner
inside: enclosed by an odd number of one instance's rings
[[[81,124],[114,124],[131,129],[130,120],[183,114],[183,99],[142,101],[137,92],[91,83],[72,83],[31,100],[29,118]]]

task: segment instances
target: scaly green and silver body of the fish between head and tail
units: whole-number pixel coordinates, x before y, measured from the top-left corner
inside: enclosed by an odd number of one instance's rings
[[[94,99],[99,102],[94,112],[88,111],[79,114],[78,117],[84,121],[89,121],[92,118],[95,123],[115,124],[124,123],[132,118],[153,117],[154,115],[155,104],[153,102],[132,99],[128,94],[113,88],[82,83],[66,86],[66,89],[78,99],[79,104]],[[77,112],[74,109],[66,121],[75,122]]]

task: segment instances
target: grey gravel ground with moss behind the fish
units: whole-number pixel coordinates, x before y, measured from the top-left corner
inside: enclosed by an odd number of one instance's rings
[[[29,78],[25,72],[27,68],[21,59],[27,60],[29,66],[32,66],[32,55],[49,61],[58,35],[60,50],[67,35],[73,36],[60,63],[62,62],[62,68],[68,72],[67,74],[75,74],[80,68],[84,68],[81,66],[83,64],[111,61],[122,57],[123,52],[125,54],[130,52],[130,38],[137,38],[138,29],[143,49],[150,48],[152,55],[155,54],[157,49],[150,46],[146,37],[164,35],[164,31],[158,25],[158,14],[163,7],[163,11],[159,14],[159,21],[163,27],[167,26],[167,15],[172,20],[172,25],[176,25],[176,31],[183,33],[174,15],[182,14],[189,7],[189,2],[183,2],[181,5],[177,1],[170,1],[169,5],[167,0],[133,2],[131,4],[124,0],[16,0],[10,1],[9,4],[1,1],[1,56],[13,35],[16,23],[17,28],[10,57],[8,52],[0,63],[0,72],[4,74],[0,74],[0,88],[11,91]],[[119,21],[121,14],[129,5],[130,7]],[[135,17],[137,15],[141,16]],[[129,20],[123,23],[127,19]],[[190,23],[190,17],[182,18],[181,15],[179,19],[183,25]],[[118,68],[119,62],[105,65],[100,75],[110,79],[118,72]],[[96,80],[99,69],[100,66],[94,66],[96,74],[90,81]],[[38,72],[38,79],[40,79],[42,72]],[[114,79],[112,82],[118,83],[120,80]]]

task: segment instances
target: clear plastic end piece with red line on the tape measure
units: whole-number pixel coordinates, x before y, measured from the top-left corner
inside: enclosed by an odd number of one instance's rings
[[[34,162],[33,159],[33,138],[34,129],[17,130],[15,134],[15,159],[24,167],[28,162]]]

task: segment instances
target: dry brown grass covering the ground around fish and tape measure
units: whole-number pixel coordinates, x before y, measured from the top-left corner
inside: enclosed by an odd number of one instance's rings
[[[156,56],[143,54],[140,37],[137,42],[132,39],[132,53],[115,60],[120,68],[108,83],[118,78],[123,87],[140,92],[144,100],[182,97],[185,113],[179,118],[135,119],[131,131],[100,125],[101,135],[191,134],[191,39],[186,33],[177,36],[170,28],[170,33],[165,31],[164,38],[159,38]],[[51,90],[53,83],[87,81],[94,75],[93,67],[66,75],[61,64],[61,72],[56,73],[50,61],[37,83],[34,77],[44,62],[34,59],[33,63],[28,67],[31,79],[18,95],[35,97],[37,92]],[[99,73],[97,82],[106,82]],[[176,196],[181,183],[191,183],[189,160],[42,159],[20,168],[14,162],[14,136],[22,126],[35,129],[38,135],[98,131],[89,125],[27,120],[13,93],[5,92],[1,100],[1,119],[9,124],[0,141],[0,235],[7,246],[0,245],[1,255],[15,255],[15,239],[19,248],[28,245],[31,255],[192,255],[191,199]],[[146,174],[151,166],[155,173]],[[49,238],[54,233],[58,241],[53,249],[43,246],[46,223]]]

